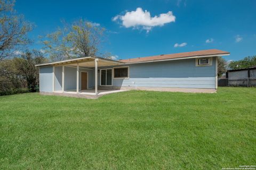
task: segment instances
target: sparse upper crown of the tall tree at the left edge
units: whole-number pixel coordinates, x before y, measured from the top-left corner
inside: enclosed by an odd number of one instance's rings
[[[0,0],[0,61],[12,56],[18,47],[29,43],[27,32],[31,24],[15,15],[14,1]]]

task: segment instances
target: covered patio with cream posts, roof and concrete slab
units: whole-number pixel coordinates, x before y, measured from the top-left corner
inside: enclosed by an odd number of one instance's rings
[[[95,56],[75,58],[66,61],[40,64],[52,66],[52,91],[60,96],[102,96],[124,90],[103,90],[99,86],[99,67],[121,65],[123,62]],[[106,73],[107,74],[107,73]],[[107,79],[106,79],[107,81]]]

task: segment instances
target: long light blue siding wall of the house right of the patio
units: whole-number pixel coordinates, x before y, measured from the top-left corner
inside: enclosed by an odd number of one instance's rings
[[[130,78],[113,79],[113,87],[215,89],[215,57],[212,57],[210,66],[196,66],[195,58],[126,66],[129,66]],[[118,66],[99,67],[99,69],[111,67]],[[98,73],[98,82],[100,85],[100,73]]]

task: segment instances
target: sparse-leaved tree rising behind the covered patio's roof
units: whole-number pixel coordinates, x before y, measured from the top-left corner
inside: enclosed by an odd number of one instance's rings
[[[99,25],[79,20],[65,24],[41,40],[52,61],[86,57],[97,54],[104,30]]]

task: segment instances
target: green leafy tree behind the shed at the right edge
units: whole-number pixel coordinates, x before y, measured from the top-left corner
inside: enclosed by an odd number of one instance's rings
[[[229,63],[230,69],[246,69],[249,67],[256,66],[256,56],[248,56],[242,60],[232,61]]]

